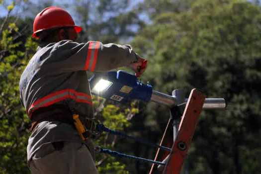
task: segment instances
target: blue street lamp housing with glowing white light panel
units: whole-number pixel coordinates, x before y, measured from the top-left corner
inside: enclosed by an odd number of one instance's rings
[[[150,101],[153,89],[124,71],[94,74],[89,83],[93,95],[118,102],[129,102],[131,99]]]

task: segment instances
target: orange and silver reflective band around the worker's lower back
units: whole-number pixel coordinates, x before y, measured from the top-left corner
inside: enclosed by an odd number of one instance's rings
[[[92,98],[91,96],[82,93],[82,92],[76,92],[73,89],[64,89],[60,90],[54,93],[51,93],[37,101],[35,101],[28,110],[28,115],[31,118],[32,112],[40,107],[46,107],[51,104],[54,104],[56,102],[65,100],[66,98],[73,98],[77,102],[81,103],[88,103],[92,105]]]

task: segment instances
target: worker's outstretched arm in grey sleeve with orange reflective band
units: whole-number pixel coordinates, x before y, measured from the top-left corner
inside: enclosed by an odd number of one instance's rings
[[[139,70],[143,59],[130,45],[62,41],[57,46],[56,54],[60,57],[59,64],[64,71],[97,72],[130,66],[135,72],[142,73],[146,69]]]

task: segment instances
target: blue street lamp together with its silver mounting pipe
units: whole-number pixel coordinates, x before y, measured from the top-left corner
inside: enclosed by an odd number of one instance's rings
[[[94,74],[90,78],[89,83],[93,95],[118,102],[129,102],[132,99],[139,99],[146,102],[154,101],[172,108],[187,101],[187,98],[177,94],[168,95],[155,91],[152,86],[138,82],[136,76],[124,71]],[[224,98],[206,98],[203,105],[204,109],[225,107],[226,101]]]

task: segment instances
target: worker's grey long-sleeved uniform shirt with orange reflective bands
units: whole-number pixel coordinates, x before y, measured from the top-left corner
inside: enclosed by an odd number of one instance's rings
[[[138,58],[130,45],[70,40],[40,45],[20,78],[21,103],[29,118],[38,108],[52,104],[68,106],[72,112],[93,118],[86,71],[108,71],[128,66]],[[28,162],[42,145],[56,141],[83,142],[71,125],[44,121],[29,138]]]

